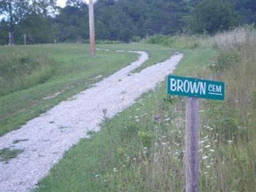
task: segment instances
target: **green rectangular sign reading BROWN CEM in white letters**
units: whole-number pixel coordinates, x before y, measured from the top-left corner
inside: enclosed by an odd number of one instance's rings
[[[167,91],[170,95],[224,100],[225,84],[218,81],[189,77],[168,76]]]

